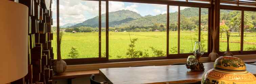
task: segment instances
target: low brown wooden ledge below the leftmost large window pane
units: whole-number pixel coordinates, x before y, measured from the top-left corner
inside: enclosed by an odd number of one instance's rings
[[[99,70],[64,72],[60,75],[54,75],[52,79],[70,79],[70,78],[79,78],[79,77],[89,77],[93,74],[100,75]]]

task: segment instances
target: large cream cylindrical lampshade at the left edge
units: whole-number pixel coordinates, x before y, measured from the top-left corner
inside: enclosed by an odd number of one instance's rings
[[[28,7],[0,0],[0,84],[28,73]]]

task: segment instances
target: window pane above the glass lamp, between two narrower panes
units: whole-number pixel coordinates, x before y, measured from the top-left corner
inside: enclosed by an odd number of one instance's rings
[[[199,8],[180,7],[180,53],[193,52],[198,41]]]

